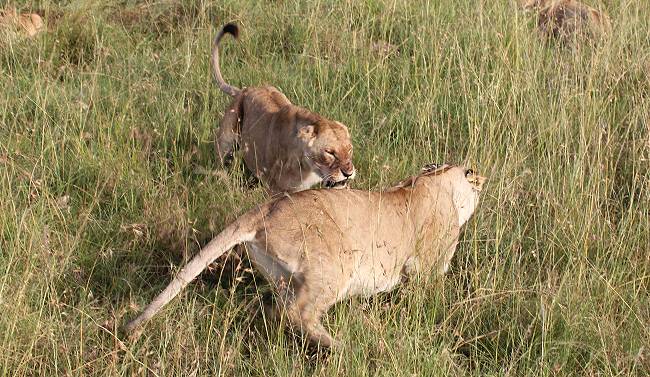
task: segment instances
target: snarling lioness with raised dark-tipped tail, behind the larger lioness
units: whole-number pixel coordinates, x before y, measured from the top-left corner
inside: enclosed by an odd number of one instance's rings
[[[239,29],[225,25],[212,48],[212,67],[219,88],[234,97],[217,131],[221,163],[240,143],[244,162],[271,192],[295,192],[325,182],[342,186],[355,176],[352,143],[345,125],[295,106],[272,86],[238,89],[219,69],[219,42]]]

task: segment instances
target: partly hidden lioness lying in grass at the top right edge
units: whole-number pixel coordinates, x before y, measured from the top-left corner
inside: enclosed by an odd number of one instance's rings
[[[524,9],[537,11],[537,26],[544,36],[562,41],[574,36],[601,38],[612,29],[607,14],[577,0],[528,0]]]

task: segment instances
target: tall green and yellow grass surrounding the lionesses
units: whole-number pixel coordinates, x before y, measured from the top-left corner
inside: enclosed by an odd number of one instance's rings
[[[514,1],[18,1],[0,37],[3,376],[646,376],[650,2],[589,0],[598,48],[545,45]],[[343,302],[314,355],[256,309],[245,262],[117,331],[265,199],[213,132],[238,86],[347,124],[356,188],[428,162],[489,176],[450,272]]]

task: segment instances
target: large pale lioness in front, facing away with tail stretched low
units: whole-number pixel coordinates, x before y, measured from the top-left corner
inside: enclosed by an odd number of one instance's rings
[[[417,272],[447,271],[484,181],[460,166],[434,165],[386,191],[309,190],[271,200],[208,243],[125,330],[138,328],[216,258],[245,243],[289,323],[312,343],[332,346],[320,318],[336,302],[388,291]]]

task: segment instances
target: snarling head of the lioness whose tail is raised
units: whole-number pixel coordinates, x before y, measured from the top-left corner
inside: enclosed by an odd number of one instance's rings
[[[304,157],[326,187],[345,186],[356,170],[352,164],[352,142],[348,128],[340,122],[321,120],[299,129],[305,143]]]

